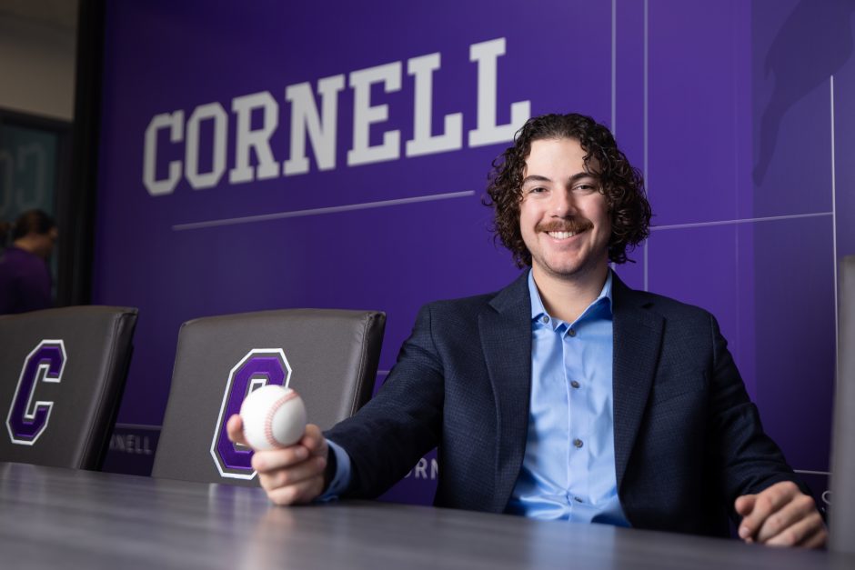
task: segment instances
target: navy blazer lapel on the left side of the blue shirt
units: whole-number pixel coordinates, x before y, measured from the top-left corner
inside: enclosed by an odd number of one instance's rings
[[[500,512],[517,482],[526,451],[531,389],[531,302],[528,272],[502,289],[478,315],[481,346],[496,404],[496,479],[493,511]]]

